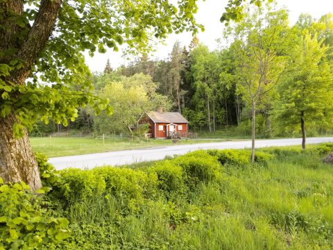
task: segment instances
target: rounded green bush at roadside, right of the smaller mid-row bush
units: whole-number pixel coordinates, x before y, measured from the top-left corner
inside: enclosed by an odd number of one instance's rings
[[[189,188],[194,188],[198,183],[208,183],[219,179],[221,165],[216,156],[211,156],[207,151],[199,150],[179,156],[171,161],[182,167],[184,181]]]

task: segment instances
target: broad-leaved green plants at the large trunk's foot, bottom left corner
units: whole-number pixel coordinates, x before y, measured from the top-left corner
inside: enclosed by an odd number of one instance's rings
[[[4,185],[0,178],[0,249],[36,249],[68,238],[69,222],[47,206],[25,183]]]

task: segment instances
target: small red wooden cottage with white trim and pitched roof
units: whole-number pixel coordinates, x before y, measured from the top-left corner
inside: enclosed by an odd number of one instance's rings
[[[151,138],[185,137],[189,121],[178,112],[149,111],[139,119],[138,124],[150,124]]]

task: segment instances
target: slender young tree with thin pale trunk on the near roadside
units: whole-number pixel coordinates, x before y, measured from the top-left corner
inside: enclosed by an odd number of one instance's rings
[[[252,110],[252,150],[255,160],[255,116],[257,106],[267,97],[284,73],[284,35],[288,31],[286,10],[265,6],[254,10],[230,28],[234,42],[231,49],[236,58],[237,88]],[[230,35],[229,33],[229,35]]]

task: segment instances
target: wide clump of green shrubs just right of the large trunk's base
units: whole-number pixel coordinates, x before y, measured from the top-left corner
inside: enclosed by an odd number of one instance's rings
[[[66,209],[74,203],[89,204],[115,199],[122,213],[140,209],[146,197],[153,199],[157,191],[157,176],[142,171],[117,167],[96,167],[91,170],[64,169],[58,199]],[[65,199],[64,199],[65,198]],[[68,206],[68,207],[67,207]],[[81,206],[83,213],[89,206]]]

